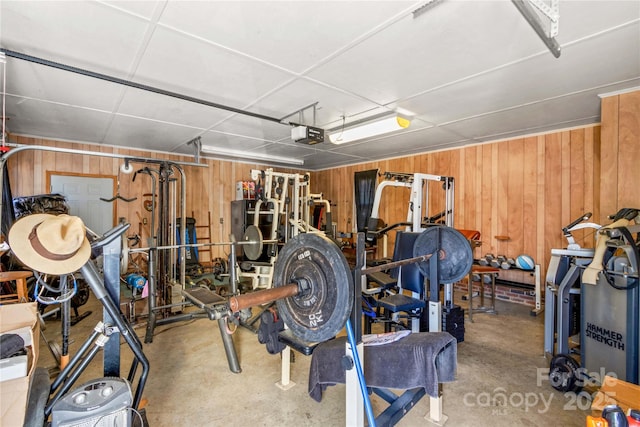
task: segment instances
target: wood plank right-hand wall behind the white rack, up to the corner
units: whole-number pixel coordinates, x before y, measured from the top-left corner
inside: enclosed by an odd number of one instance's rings
[[[562,227],[586,211],[597,211],[593,190],[600,185],[594,172],[599,146],[600,127],[590,126],[318,172],[312,174],[311,182],[335,203],[333,220],[338,230],[350,232],[352,186],[344,182],[353,182],[354,172],[379,169],[381,173],[453,176],[454,225],[481,232],[482,246],[474,256],[493,253],[515,258],[526,253],[544,267],[551,248],[566,246]],[[396,189],[389,190],[383,193],[380,218],[387,224],[404,221],[409,191],[391,194]],[[435,191],[431,195],[439,197]],[[508,240],[496,236],[508,236]],[[592,233],[579,237],[583,246],[593,246]],[[389,240],[393,241],[393,236]],[[392,247],[388,251],[391,253]],[[524,274],[509,271],[502,275],[527,281]]]

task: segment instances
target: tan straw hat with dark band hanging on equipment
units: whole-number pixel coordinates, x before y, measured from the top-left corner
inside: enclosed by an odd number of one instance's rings
[[[32,270],[68,274],[91,256],[84,223],[77,216],[34,214],[16,221],[9,230],[9,246]]]

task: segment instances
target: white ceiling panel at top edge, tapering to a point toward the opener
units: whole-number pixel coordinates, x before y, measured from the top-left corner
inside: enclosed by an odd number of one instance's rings
[[[417,3],[169,2],[160,23],[299,73]]]

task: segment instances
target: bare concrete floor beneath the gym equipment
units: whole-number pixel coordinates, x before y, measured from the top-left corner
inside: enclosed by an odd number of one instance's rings
[[[463,308],[467,302],[457,301]],[[476,303],[477,304],[477,303]],[[443,385],[447,426],[584,426],[590,413],[584,396],[563,395],[547,381],[548,362],[543,354],[543,315],[530,308],[497,301],[497,315],[465,316],[465,340],[458,343],[457,380]],[[89,335],[102,316],[91,296],[80,312],[92,315],[71,329],[70,354]],[[45,335],[60,340],[60,322],[46,320]],[[136,326],[141,340],[145,325]],[[151,371],[144,389],[150,426],[340,426],[345,424],[345,386],[329,387],[321,403],[307,393],[310,356],[295,353],[288,391],[276,387],[280,380],[280,355],[267,353],[257,336],[246,328],[234,334],[242,373],[228,368],[217,322],[207,319],[160,326],[153,342],[145,345]],[[123,344],[122,376],[131,354]],[[56,362],[41,340],[39,366]],[[396,367],[396,369],[402,369]],[[102,376],[98,356],[77,385]],[[577,397],[577,398],[576,398]],[[374,413],[386,402],[372,396]],[[432,425],[424,417],[429,399],[424,397],[398,426]]]

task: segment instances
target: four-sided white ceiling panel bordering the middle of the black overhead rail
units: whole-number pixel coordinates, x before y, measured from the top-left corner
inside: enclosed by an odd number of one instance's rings
[[[158,27],[141,58],[135,79],[164,90],[244,108],[291,76]]]

